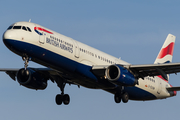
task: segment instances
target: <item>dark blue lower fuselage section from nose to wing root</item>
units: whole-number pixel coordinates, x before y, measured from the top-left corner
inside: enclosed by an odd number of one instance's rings
[[[70,72],[76,72],[86,77],[89,77],[93,80],[97,80],[94,74],[90,72],[91,66],[78,63],[62,55],[59,55],[57,53],[51,52],[47,49],[44,49],[42,47],[30,43],[25,43],[16,40],[6,40],[6,41],[8,41],[9,47],[16,46],[14,50],[18,52],[21,53],[26,52],[26,54],[30,55],[32,58],[34,57],[40,59],[42,61],[45,61],[46,63],[51,63],[53,66],[60,67]],[[52,66],[48,66],[48,67],[52,67]]]

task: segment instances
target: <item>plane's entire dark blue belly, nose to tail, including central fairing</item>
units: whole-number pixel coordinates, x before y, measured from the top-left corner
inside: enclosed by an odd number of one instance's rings
[[[17,48],[13,49],[15,53],[25,53],[32,57],[32,61],[37,62],[46,67],[56,69],[58,71],[68,71],[75,75],[74,79],[70,80],[78,85],[92,88],[92,89],[108,89],[113,91],[116,85],[108,82],[107,80],[98,80],[97,77],[90,71],[91,66],[78,63],[74,60],[66,58],[62,55],[54,53],[50,50],[44,49],[37,45],[26,42],[9,40],[9,43],[16,44]],[[30,50],[25,50],[25,49]],[[23,51],[22,51],[23,50]],[[157,99],[152,93],[138,87],[125,87],[130,99],[132,100],[153,100]]]

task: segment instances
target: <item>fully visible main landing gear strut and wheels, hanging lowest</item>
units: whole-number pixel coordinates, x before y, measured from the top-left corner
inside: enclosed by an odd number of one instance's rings
[[[70,97],[68,94],[64,94],[64,88],[66,85],[65,80],[58,77],[56,79],[56,83],[61,90],[61,94],[56,95],[56,98],[55,98],[56,104],[61,105],[62,103],[64,103],[64,105],[68,105],[70,103]]]

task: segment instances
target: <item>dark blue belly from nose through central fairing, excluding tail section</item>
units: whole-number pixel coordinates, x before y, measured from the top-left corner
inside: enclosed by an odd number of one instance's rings
[[[14,42],[14,40],[8,40],[8,43],[16,44],[14,46],[17,46],[17,48],[14,48],[13,52],[27,54],[32,58],[32,61],[36,63],[58,71],[74,74],[74,79],[71,81],[81,86],[92,89],[109,89],[115,87],[115,85],[110,82],[98,81],[97,77],[90,71],[91,66],[78,63],[74,60],[30,43],[21,41]],[[24,49],[29,50],[26,51]],[[18,55],[22,56],[22,54]]]

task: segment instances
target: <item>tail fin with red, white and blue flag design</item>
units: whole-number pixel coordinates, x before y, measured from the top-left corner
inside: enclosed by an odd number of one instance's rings
[[[172,34],[168,34],[159,54],[154,62],[154,64],[163,64],[163,63],[171,63],[174,51],[176,36]],[[161,79],[164,79],[161,75],[158,76]],[[169,75],[167,75],[169,81]],[[165,79],[164,79],[165,80]]]

